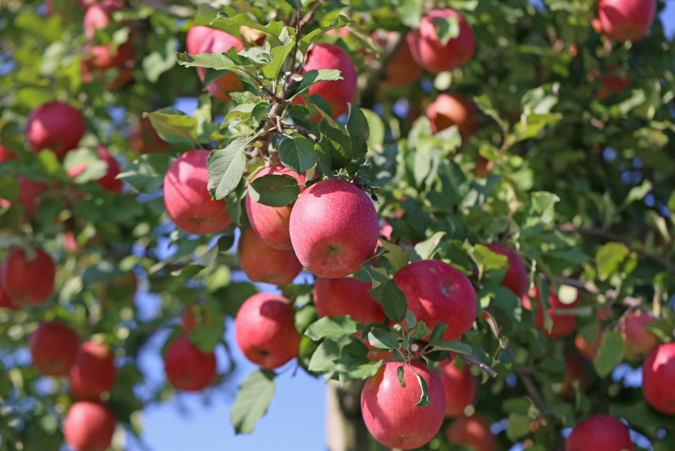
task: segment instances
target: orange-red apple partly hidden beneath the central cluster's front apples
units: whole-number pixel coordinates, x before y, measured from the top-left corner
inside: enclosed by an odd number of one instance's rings
[[[242,232],[237,248],[237,262],[253,282],[264,282],[281,287],[293,282],[302,271],[302,264],[293,250],[267,246],[252,228]]]

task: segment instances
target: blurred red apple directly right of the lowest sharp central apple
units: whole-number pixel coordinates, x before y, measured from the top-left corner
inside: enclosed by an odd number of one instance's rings
[[[438,365],[438,369],[445,390],[445,416],[462,416],[464,409],[474,403],[478,393],[478,384],[469,364],[465,363],[460,370],[454,361],[446,359]]]

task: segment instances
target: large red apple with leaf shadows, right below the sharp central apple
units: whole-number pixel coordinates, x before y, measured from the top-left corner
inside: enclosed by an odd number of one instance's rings
[[[408,309],[429,330],[437,323],[448,328],[444,341],[459,341],[476,319],[476,291],[469,279],[440,260],[417,260],[399,269],[393,278],[406,293]]]

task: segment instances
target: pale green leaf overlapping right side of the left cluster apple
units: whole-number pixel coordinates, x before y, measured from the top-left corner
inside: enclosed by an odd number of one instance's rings
[[[226,148],[217,149],[208,155],[206,161],[208,191],[217,200],[233,192],[239,185],[246,166],[244,150],[249,142],[251,142],[250,137],[237,138],[230,142]]]

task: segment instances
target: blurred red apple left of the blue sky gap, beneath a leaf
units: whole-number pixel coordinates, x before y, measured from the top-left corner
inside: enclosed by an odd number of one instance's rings
[[[215,380],[215,354],[201,352],[188,337],[178,337],[171,343],[164,361],[167,379],[176,389],[199,391]]]

